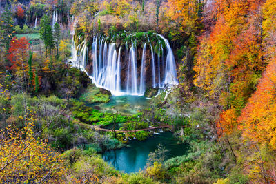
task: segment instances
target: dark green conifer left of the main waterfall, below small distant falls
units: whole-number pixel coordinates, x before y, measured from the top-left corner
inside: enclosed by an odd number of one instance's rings
[[[54,37],[52,35],[52,27],[50,25],[50,18],[46,14],[44,14],[41,18],[40,26],[41,29],[39,31],[39,34],[44,42],[47,57],[48,49],[52,50],[52,48],[55,48],[55,45]]]

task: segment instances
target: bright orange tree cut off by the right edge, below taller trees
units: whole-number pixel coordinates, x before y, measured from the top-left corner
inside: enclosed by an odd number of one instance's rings
[[[238,121],[243,136],[276,150],[276,58],[270,61]]]

